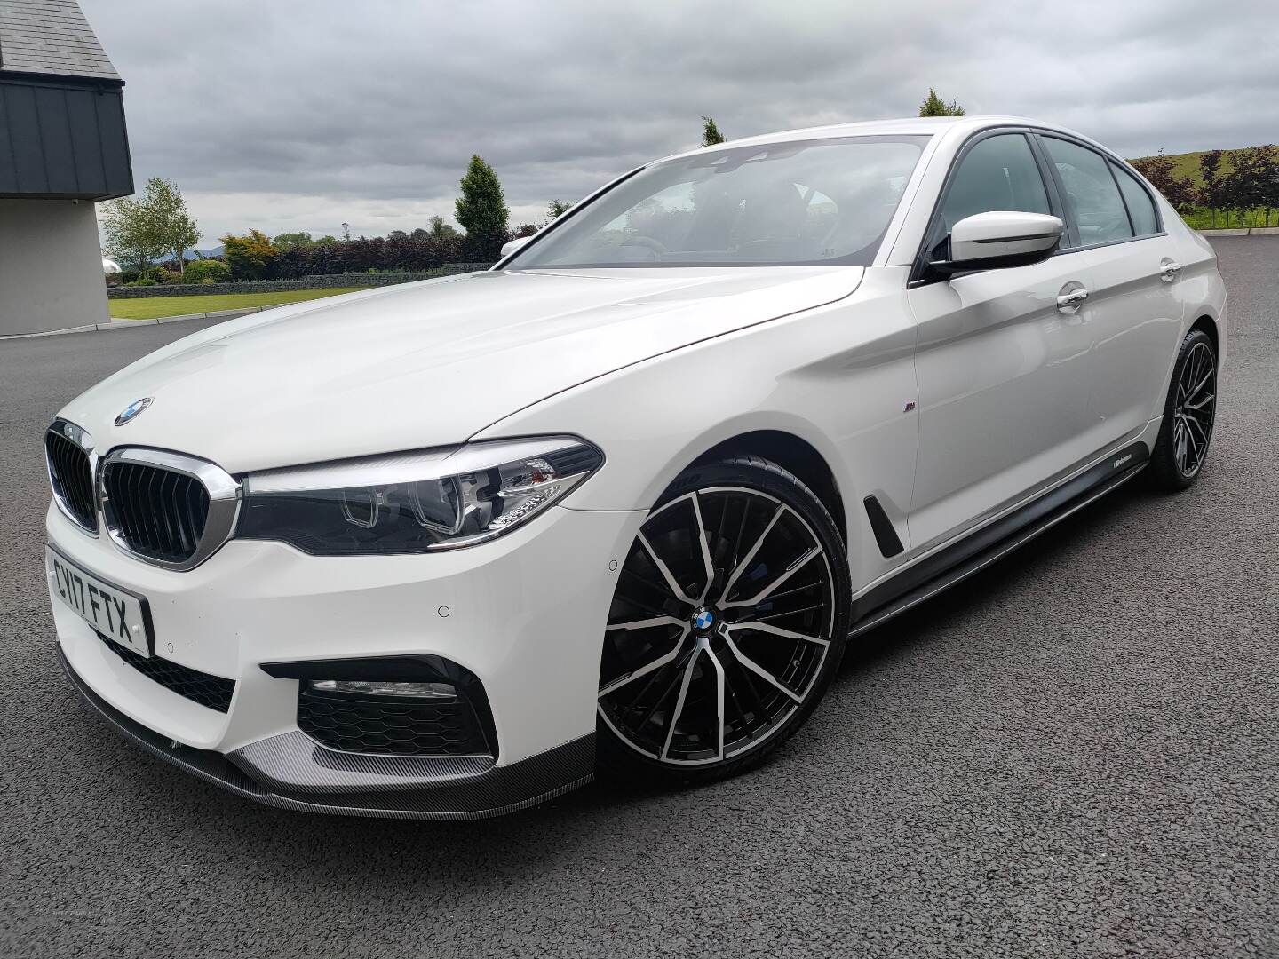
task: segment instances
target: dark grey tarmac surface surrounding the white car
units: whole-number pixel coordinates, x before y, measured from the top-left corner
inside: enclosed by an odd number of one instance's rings
[[[1279,956],[1279,239],[1219,239],[1212,454],[849,657],[762,770],[480,823],[262,808],[56,666],[41,431],[205,324],[0,343],[0,953]]]

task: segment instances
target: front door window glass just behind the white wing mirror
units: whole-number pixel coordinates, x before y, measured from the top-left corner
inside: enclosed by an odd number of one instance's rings
[[[936,239],[944,239],[966,216],[991,210],[1053,212],[1035,155],[1021,133],[1001,133],[978,141],[959,161],[941,205]]]

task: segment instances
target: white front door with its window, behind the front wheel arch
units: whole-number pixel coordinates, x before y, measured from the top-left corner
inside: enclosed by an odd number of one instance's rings
[[[930,276],[922,262],[945,258],[958,220],[993,210],[1065,219],[1028,132],[989,132],[963,147],[907,292],[918,324],[909,519],[917,546],[961,532],[1091,451],[1083,439],[1091,306],[1058,304],[1087,288],[1086,258],[1062,252],[949,280]]]

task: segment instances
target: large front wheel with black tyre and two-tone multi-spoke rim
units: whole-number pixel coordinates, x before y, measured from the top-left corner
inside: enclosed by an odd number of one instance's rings
[[[803,482],[758,456],[686,469],[618,574],[600,660],[601,775],[691,785],[761,763],[830,685],[849,606],[843,540]]]

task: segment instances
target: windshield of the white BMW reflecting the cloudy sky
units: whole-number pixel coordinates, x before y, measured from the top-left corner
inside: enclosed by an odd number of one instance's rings
[[[623,180],[506,269],[868,266],[927,137],[716,150]]]

